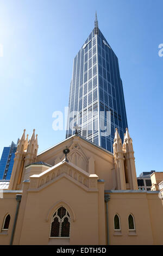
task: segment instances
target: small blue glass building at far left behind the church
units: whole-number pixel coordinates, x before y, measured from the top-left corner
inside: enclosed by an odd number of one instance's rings
[[[0,180],[10,180],[16,149],[14,142],[9,147],[4,147],[0,161]]]

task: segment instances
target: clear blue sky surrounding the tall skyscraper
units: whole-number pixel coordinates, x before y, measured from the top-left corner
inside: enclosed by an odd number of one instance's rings
[[[73,58],[99,28],[116,53],[136,173],[163,171],[161,0],[1,0],[0,156],[23,129],[38,133],[39,152],[65,139],[54,111],[68,106]]]

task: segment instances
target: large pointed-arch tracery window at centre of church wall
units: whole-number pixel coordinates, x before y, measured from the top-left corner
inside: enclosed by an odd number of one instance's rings
[[[70,237],[70,215],[63,206],[52,217],[50,237]]]

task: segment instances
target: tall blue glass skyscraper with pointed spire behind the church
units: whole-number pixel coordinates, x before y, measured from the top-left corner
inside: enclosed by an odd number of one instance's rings
[[[115,128],[123,139],[128,127],[118,58],[98,28],[97,14],[73,61],[68,111],[66,138],[78,125],[79,135],[111,152]]]

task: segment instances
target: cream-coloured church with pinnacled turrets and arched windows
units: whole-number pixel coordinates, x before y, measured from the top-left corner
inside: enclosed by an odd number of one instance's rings
[[[67,158],[63,153],[70,149]],[[115,132],[114,154],[74,135],[37,154],[18,142],[1,191],[1,245],[162,245],[158,191],[139,191],[133,142]]]

